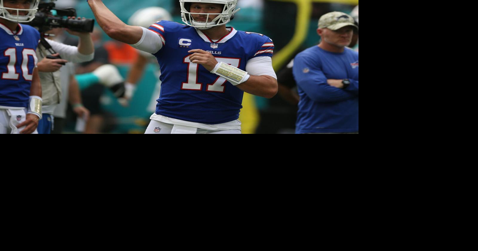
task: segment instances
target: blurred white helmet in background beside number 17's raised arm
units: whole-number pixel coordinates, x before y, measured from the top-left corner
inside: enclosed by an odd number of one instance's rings
[[[161,7],[148,7],[134,12],[128,20],[128,24],[132,26],[141,26],[147,29],[151,24],[161,20],[172,21],[173,18],[168,11]]]

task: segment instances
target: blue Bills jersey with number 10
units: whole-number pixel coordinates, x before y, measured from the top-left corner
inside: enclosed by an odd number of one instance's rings
[[[39,40],[29,25],[11,31],[0,23],[0,106],[27,107]]]

